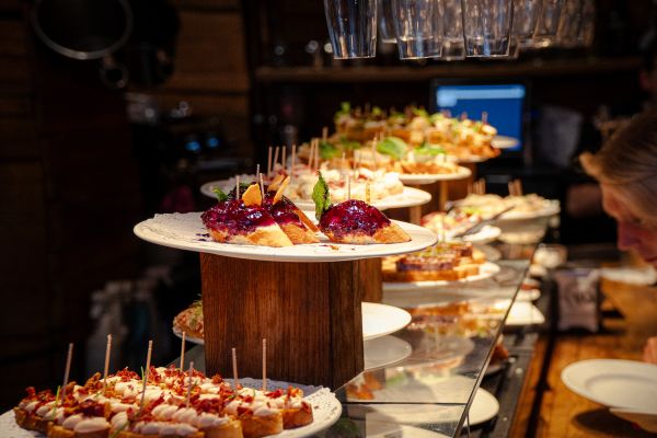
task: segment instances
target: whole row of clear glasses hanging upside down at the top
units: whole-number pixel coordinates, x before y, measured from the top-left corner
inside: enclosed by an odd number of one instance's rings
[[[377,27],[400,59],[516,58],[589,47],[595,0],[324,0],[336,59],[371,58]]]

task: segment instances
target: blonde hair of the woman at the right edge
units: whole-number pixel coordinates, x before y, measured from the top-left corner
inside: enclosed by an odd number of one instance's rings
[[[615,186],[644,214],[657,216],[657,112],[634,117],[598,153],[583,153],[579,161],[589,175]]]

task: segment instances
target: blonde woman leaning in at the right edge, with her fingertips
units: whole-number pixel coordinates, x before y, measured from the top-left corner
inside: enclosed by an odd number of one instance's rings
[[[636,116],[598,153],[579,159],[600,183],[602,207],[618,223],[619,247],[657,267],[657,112]],[[646,343],[644,360],[657,364],[657,336]]]

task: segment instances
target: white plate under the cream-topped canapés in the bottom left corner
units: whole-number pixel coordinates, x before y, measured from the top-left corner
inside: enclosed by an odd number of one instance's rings
[[[240,379],[240,383],[247,388],[262,388],[262,380],[260,379]],[[314,436],[315,434],[331,427],[335,422],[337,422],[342,414],[342,404],[330,389],[321,387],[308,387],[296,383],[291,384],[302,389],[303,393],[308,394],[304,396],[304,399],[312,405],[313,422],[308,426],[284,430],[280,434],[270,435],[270,437],[300,438]],[[267,388],[269,390],[276,390],[279,388],[287,390],[289,385],[290,383],[288,382],[279,382],[275,380],[267,381]],[[16,425],[13,411],[9,411],[0,416],[0,437],[33,438],[45,437],[45,435],[21,429]]]

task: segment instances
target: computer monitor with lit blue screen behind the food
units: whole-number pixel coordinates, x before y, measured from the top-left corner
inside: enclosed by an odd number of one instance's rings
[[[435,80],[431,83],[435,111],[449,111],[453,117],[466,113],[469,118],[481,119],[488,114],[488,123],[499,136],[518,139],[507,149],[518,152],[523,143],[523,112],[527,87],[522,83],[459,83]]]

